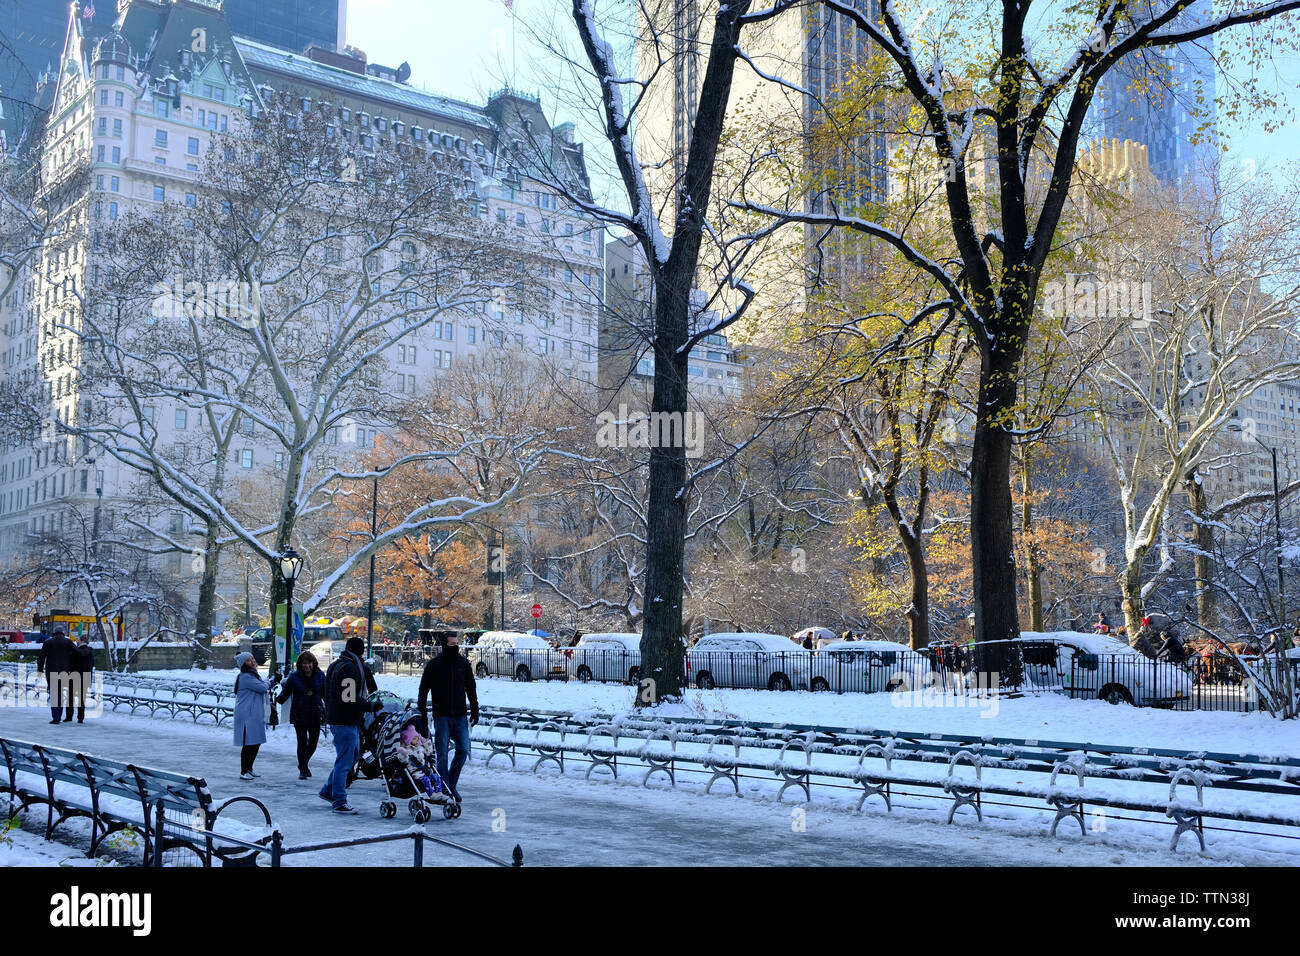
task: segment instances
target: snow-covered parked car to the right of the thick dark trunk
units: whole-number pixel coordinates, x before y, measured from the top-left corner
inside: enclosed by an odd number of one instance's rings
[[[1175,706],[1192,695],[1187,667],[1152,661],[1118,637],[1024,632],[1019,644],[1030,687],[1139,706]]]

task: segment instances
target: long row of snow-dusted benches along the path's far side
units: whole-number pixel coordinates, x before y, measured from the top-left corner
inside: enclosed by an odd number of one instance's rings
[[[165,678],[135,676],[151,713],[191,717],[151,688]],[[118,687],[113,693],[126,695]],[[214,702],[214,708],[230,704]],[[135,713],[139,708],[133,706]],[[937,800],[948,822],[970,809],[1052,817],[1052,832],[1075,821],[1080,832],[1139,813],[1145,823],[1173,827],[1170,845],[1192,832],[1204,847],[1206,831],[1254,832],[1300,839],[1300,758],[1063,740],[824,727],[753,721],[642,717],[637,713],[571,714],[485,706],[472,739],[489,750],[485,762],[520,757],[537,773],[572,765],[621,779],[640,773],[641,786],[698,780],[741,792],[741,783],[793,791],[811,803],[814,790],[858,795],[857,808],[879,797],[892,810],[900,797]],[[621,777],[620,777],[621,775]],[[1030,782],[1035,780],[1036,782]],[[1206,800],[1205,793],[1212,793]],[[1258,827],[1248,830],[1247,826]]]

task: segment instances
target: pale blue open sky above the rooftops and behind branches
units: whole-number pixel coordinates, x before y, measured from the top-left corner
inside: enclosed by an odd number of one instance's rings
[[[555,64],[540,53],[526,25],[552,20],[571,35],[568,9],[566,0],[515,0],[516,26],[502,0],[350,0],[347,35],[372,61],[389,66],[410,62],[411,82],[433,92],[482,103],[489,92],[511,82],[526,92],[541,92],[543,107],[554,114],[556,99],[549,90],[558,82]],[[1300,111],[1300,55],[1279,59],[1265,77]],[[589,152],[603,153],[595,146],[598,133],[590,120],[572,112],[562,108],[559,118],[576,120]],[[1251,161],[1264,170],[1300,159],[1296,121],[1274,133],[1264,131],[1258,122],[1225,133],[1231,138],[1230,163]]]

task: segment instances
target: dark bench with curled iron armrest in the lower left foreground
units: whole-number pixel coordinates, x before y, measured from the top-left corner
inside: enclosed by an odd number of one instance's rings
[[[86,818],[91,822],[90,857],[113,834],[130,830],[143,835],[146,866],[173,848],[194,852],[204,866],[212,866],[214,858],[224,865],[247,862],[255,851],[217,847],[213,840],[221,814],[242,804],[260,810],[265,822],[265,835],[252,842],[264,844],[270,838],[270,813],[260,800],[237,796],[217,804],[200,777],[8,737],[0,737],[0,757],[6,775],[0,787],[9,795],[9,817],[44,805],[47,840],[65,821]],[[39,783],[20,775],[39,778]]]

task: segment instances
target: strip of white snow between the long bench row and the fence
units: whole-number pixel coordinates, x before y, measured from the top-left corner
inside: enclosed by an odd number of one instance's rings
[[[233,683],[229,671],[144,671],[155,676]],[[381,674],[380,687],[404,697],[420,691],[419,676]],[[632,709],[633,688],[577,682],[519,683],[507,678],[478,682],[478,702],[510,709],[568,713],[623,713]],[[1079,744],[1161,747],[1174,750],[1300,756],[1300,721],[1222,710],[1157,710],[1070,700],[1043,693],[975,700],[916,692],[811,693],[809,691],[697,691],[681,704],[663,705],[663,715],[815,724],[905,734],[966,734],[1027,737]]]

